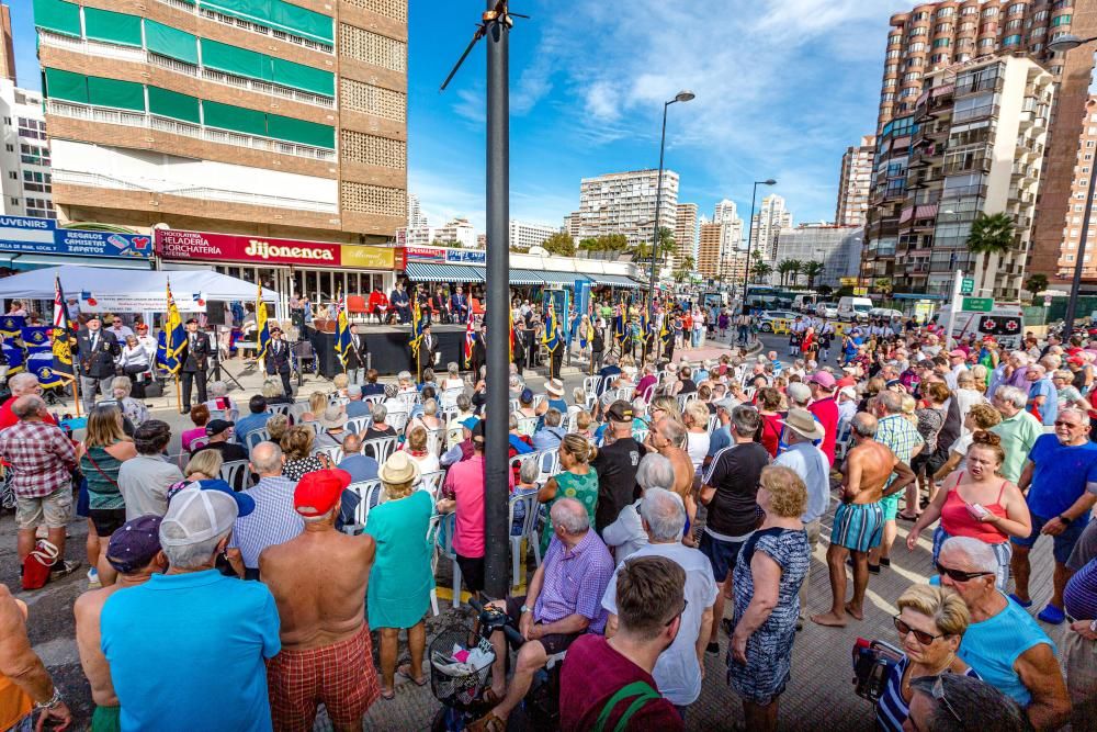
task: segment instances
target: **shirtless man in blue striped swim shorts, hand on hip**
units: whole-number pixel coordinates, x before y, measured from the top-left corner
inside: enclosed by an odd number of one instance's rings
[[[833,601],[826,615],[812,616],[812,622],[841,628],[846,612],[857,620],[864,618],[864,592],[869,586],[869,550],[880,543],[884,516],[880,499],[898,493],[914,481],[914,472],[886,446],[877,442],[877,418],[860,412],[852,420],[855,447],[846,454],[846,475],[841,485],[841,505],[834,515],[830,547],[826,563],[830,571]],[[887,487],[891,474],[896,477]],[[846,603],[846,556],[853,558],[853,597]]]

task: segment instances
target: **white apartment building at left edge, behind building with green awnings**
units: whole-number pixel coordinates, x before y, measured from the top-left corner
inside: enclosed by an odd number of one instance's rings
[[[56,218],[42,94],[0,78],[0,213]]]

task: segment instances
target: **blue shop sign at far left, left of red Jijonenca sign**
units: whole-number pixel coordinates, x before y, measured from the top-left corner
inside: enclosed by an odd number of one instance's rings
[[[72,255],[150,259],[152,237],[60,228],[52,218],[0,216],[0,249],[24,255]]]

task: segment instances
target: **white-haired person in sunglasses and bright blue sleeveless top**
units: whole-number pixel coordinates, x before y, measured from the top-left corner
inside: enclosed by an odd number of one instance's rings
[[[940,583],[960,593],[971,623],[959,656],[1013,698],[1037,730],[1058,730],[1071,714],[1055,646],[1020,605],[995,587],[998,561],[986,543],[952,537],[937,560]]]

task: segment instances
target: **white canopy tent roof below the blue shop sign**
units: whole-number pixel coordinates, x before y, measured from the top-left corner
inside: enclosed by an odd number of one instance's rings
[[[172,294],[201,292],[206,300],[255,302],[258,293],[253,283],[212,269],[160,272],[68,264],[2,278],[0,299],[52,301],[54,280],[58,275],[66,297],[77,297],[82,292],[99,292],[163,300],[169,280]],[[273,290],[263,288],[263,300],[276,303],[279,296]]]

